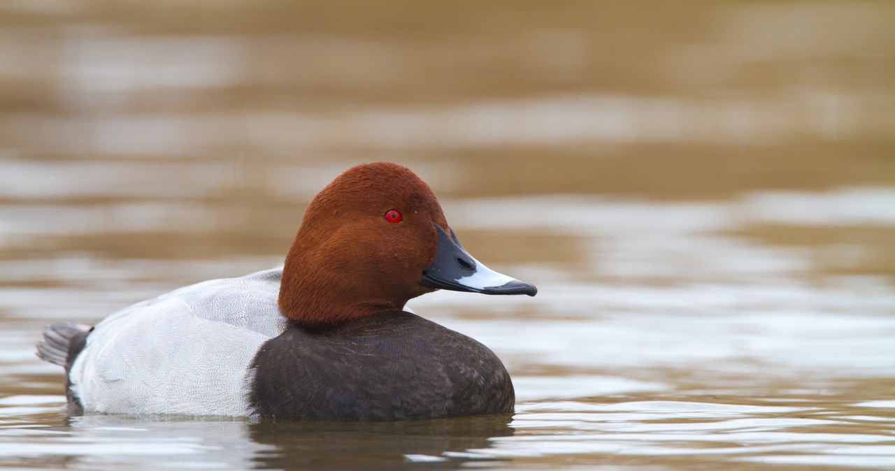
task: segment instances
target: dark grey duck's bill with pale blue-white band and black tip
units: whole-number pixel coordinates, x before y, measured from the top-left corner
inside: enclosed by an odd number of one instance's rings
[[[484,294],[527,294],[534,296],[538,289],[532,283],[520,282],[515,278],[495,272],[473,256],[456,240],[454,231],[451,236],[435,224],[439,246],[435,251],[435,260],[422,272],[422,286],[441,290],[472,291]]]

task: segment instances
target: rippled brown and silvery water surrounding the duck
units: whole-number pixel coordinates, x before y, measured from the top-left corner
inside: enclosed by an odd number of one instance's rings
[[[895,4],[0,4],[0,467],[895,469]],[[44,324],[277,265],[364,161],[534,299],[516,415],[64,414]]]

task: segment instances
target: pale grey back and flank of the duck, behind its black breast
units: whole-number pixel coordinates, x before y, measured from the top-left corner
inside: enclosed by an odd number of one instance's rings
[[[288,324],[281,273],[200,282],[109,315],[71,352],[75,409],[248,416],[251,360]]]

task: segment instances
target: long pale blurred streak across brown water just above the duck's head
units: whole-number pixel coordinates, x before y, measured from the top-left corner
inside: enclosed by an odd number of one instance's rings
[[[792,133],[826,137],[829,125],[817,129],[801,120],[806,106],[802,100],[798,95],[767,102],[541,97],[439,109],[376,109],[336,116],[268,110],[239,115],[112,113],[77,118],[10,114],[4,122],[23,144],[63,154],[181,156],[233,146],[257,147],[269,155],[328,148],[444,150],[587,142],[749,146],[775,142]],[[874,103],[895,111],[895,102],[878,104],[874,97],[842,100],[853,109]],[[658,118],[661,116],[666,118]],[[884,124],[877,122],[876,126]],[[864,129],[865,123],[849,128]],[[47,135],[65,138],[47,141]],[[208,147],[210,136],[216,137],[220,148]]]

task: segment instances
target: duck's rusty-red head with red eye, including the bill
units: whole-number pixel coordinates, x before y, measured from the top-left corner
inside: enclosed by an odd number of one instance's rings
[[[537,293],[469,255],[429,185],[379,162],[343,172],[311,201],[286,256],[279,307],[321,327],[402,309],[437,289]]]

